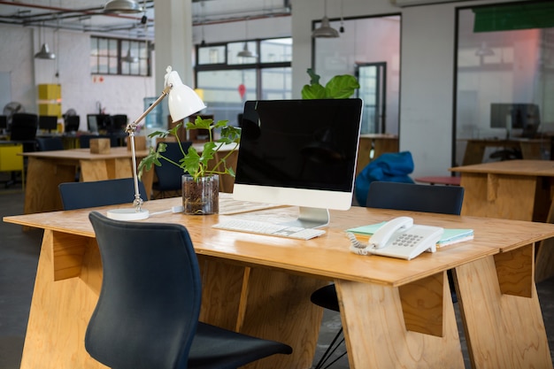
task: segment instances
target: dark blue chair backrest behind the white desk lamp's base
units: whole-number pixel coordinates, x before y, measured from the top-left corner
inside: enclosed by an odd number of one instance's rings
[[[132,204],[135,200],[133,178],[117,180],[66,182],[58,186],[64,210],[92,208],[117,204]],[[148,199],[144,185],[139,181],[142,200]]]

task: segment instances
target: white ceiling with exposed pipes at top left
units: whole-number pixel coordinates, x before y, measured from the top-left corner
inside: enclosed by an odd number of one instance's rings
[[[50,27],[93,34],[154,38],[154,1],[137,0],[146,11],[104,13],[105,0],[0,0],[0,24]],[[290,15],[290,0],[193,0],[193,23],[217,24]]]

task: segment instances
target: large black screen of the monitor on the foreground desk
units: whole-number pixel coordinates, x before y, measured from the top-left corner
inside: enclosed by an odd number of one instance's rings
[[[357,98],[247,101],[235,183],[351,191],[361,108]]]

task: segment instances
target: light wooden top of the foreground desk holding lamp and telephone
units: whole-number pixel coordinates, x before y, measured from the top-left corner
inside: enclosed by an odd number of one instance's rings
[[[221,196],[226,196],[221,194]],[[180,204],[181,198],[149,201],[144,205],[150,212],[164,211]],[[112,206],[113,208],[113,206]],[[99,208],[105,213],[106,207]],[[4,221],[28,227],[51,229],[68,234],[94,237],[88,221],[88,211],[56,211],[5,217]],[[222,209],[222,211],[224,211]],[[244,213],[246,218],[292,219],[296,208],[287,207]],[[156,223],[181,223],[191,234],[199,255],[234,259],[253,265],[265,265],[297,273],[324,277],[328,280],[373,282],[400,286],[426,276],[451,269],[477,258],[512,249],[554,236],[554,225],[518,222],[504,219],[458,217],[410,212],[416,224],[447,228],[473,228],[475,238],[470,242],[450,245],[434,254],[425,253],[412,261],[382,257],[361,257],[350,253],[344,230],[366,224],[379,223],[405,211],[377,210],[354,207],[350,211],[331,211],[327,233],[310,241],[230,232],[210,226],[227,219],[227,215],[187,216],[183,214],[152,215],[144,220]]]

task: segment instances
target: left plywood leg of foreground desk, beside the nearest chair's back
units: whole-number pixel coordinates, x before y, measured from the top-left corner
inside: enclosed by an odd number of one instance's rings
[[[82,242],[83,237],[73,236]],[[53,233],[44,231],[21,369],[101,369],[84,345],[88,319],[102,284],[96,242],[88,240],[79,278],[54,281]]]

